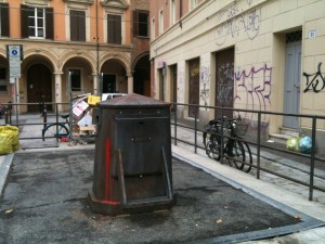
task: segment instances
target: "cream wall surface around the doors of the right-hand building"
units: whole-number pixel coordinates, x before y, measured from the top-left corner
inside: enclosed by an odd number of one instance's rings
[[[325,101],[324,10],[324,0],[206,1],[184,16],[182,27],[177,24],[157,37],[152,42],[151,56],[156,66],[162,61],[178,64],[180,103],[187,102],[185,63],[200,57],[200,104],[214,105],[211,56],[235,47],[235,107],[283,112],[285,42],[282,36],[302,29],[302,73],[315,76],[318,72],[322,76],[317,88],[310,86],[303,92],[309,82],[301,74],[300,112],[325,115],[322,102]],[[310,38],[309,33],[313,30],[316,36]],[[320,63],[323,65],[318,70]],[[273,124],[272,130],[282,126],[282,119],[270,120],[268,116],[262,119]],[[301,119],[301,126],[310,127],[310,121]],[[317,127],[325,129],[325,121],[320,121]]]

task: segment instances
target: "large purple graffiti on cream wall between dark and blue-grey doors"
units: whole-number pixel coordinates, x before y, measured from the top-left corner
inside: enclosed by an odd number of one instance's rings
[[[235,80],[234,102],[237,100],[243,104],[243,101],[246,101],[247,110],[268,110],[268,106],[271,105],[272,67],[268,67],[265,64],[257,69],[252,66],[248,70],[237,72]]]

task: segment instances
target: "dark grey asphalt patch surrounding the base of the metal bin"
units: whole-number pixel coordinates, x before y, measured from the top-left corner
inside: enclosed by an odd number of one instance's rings
[[[171,209],[93,214],[87,203],[93,158],[94,150],[16,154],[0,200],[0,243],[218,243],[222,236],[245,241],[270,230],[294,232],[301,224],[297,216],[178,159]]]

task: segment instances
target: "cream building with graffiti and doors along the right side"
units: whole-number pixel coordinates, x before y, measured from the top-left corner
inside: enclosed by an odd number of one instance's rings
[[[324,0],[158,0],[151,29],[155,98],[325,115]],[[178,115],[193,120],[195,108],[179,106]],[[200,124],[219,116],[204,107],[198,115]],[[256,114],[242,117],[256,128]],[[325,121],[316,126],[323,144]],[[310,133],[311,119],[262,115],[262,128],[266,137]]]

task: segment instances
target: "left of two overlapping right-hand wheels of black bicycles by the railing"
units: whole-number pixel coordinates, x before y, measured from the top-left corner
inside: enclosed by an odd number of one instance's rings
[[[229,164],[232,166],[233,164],[237,169],[243,169],[245,164],[245,150],[243,143],[237,140],[230,140],[225,146],[226,156],[229,157]]]

